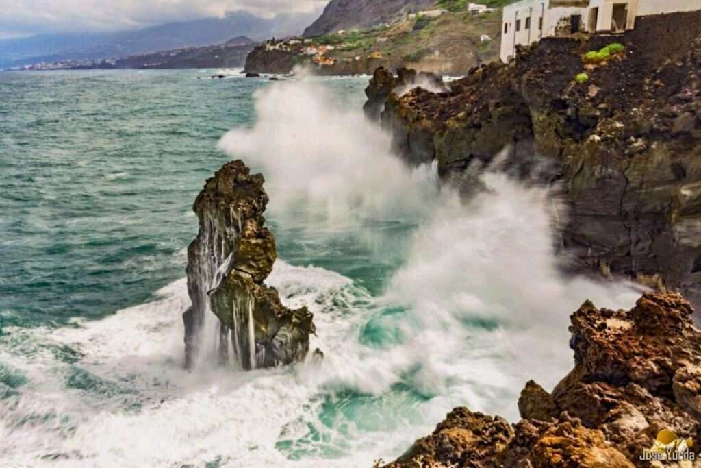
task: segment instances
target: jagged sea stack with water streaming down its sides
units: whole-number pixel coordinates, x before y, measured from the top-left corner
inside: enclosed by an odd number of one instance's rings
[[[242,161],[224,164],[207,180],[193,210],[200,220],[188,248],[192,307],[183,314],[187,368],[208,363],[235,368],[301,361],[315,332],[312,314],[283,306],[264,284],[277,258],[263,213],[264,178]]]

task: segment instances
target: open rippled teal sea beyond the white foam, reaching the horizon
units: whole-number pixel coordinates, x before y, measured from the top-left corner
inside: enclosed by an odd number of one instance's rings
[[[198,79],[208,76],[0,74],[3,324],[97,319],[182,277],[179,252],[197,231],[190,206],[229,159],[217,141],[252,125],[252,95],[272,84]],[[325,86],[359,107],[366,82]],[[350,272],[346,254],[362,263],[363,253],[342,239],[314,259],[300,251],[294,227],[276,234],[281,256],[292,262],[318,260]],[[375,272],[365,274],[374,281]]]

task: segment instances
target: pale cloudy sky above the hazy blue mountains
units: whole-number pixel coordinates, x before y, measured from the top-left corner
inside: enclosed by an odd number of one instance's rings
[[[245,10],[267,18],[319,10],[327,0],[0,0],[0,39],[48,32],[104,32]]]

